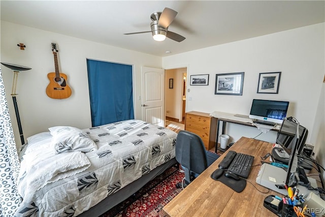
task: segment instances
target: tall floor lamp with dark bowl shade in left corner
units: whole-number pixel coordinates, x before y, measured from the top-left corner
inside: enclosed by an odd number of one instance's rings
[[[22,134],[20,116],[19,116],[19,111],[18,111],[18,106],[17,106],[17,101],[16,101],[16,95],[17,95],[16,87],[17,87],[18,73],[20,71],[30,70],[31,68],[25,67],[25,66],[19,66],[19,65],[15,65],[15,64],[8,64],[8,63],[1,63],[1,64],[14,71],[14,80],[12,82],[11,96],[14,101],[14,107],[15,107],[16,118],[17,118],[17,122],[18,122],[20,140],[21,140],[21,144],[23,145],[23,144],[25,144],[25,141],[24,141],[24,135]]]

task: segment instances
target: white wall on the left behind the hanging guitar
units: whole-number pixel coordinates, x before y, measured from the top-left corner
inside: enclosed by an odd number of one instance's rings
[[[51,43],[58,45],[60,72],[68,75],[72,96],[55,100],[47,97],[47,74],[54,72]],[[20,50],[18,43],[26,45]],[[161,68],[161,57],[112,47],[44,30],[1,21],[1,61],[32,68],[20,72],[17,101],[25,140],[28,136],[59,125],[91,127],[86,58],[133,65],[135,117],[141,119],[141,66]],[[17,146],[17,121],[10,94],[13,72],[1,65]]]

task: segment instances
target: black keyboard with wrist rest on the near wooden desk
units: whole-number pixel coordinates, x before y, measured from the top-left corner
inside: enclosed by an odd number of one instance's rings
[[[254,161],[254,157],[244,153],[230,150],[222,159],[219,168],[231,171],[236,175],[247,178]]]

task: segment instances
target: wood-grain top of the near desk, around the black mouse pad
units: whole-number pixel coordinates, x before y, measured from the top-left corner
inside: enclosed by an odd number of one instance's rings
[[[254,165],[261,165],[260,156],[264,157],[271,149],[271,143],[246,137],[240,138],[229,149],[255,157],[247,180],[262,192],[268,189],[255,182],[261,166]],[[271,190],[266,194],[258,192],[248,181],[245,190],[237,193],[210,177],[226,153],[228,151],[163,208],[168,216],[275,216],[263,206],[263,202],[268,195],[279,193]]]

